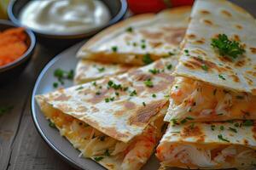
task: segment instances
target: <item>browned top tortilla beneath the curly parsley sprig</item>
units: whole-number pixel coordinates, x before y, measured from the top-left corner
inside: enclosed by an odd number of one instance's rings
[[[198,0],[183,41],[176,74],[256,95],[256,20],[224,0]],[[225,34],[241,42],[245,53],[231,60],[212,48],[212,38]],[[204,69],[207,67],[206,69]]]

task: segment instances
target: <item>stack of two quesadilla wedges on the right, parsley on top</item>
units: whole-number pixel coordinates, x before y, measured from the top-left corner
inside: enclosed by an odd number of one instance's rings
[[[255,26],[228,1],[195,2],[156,153],[163,167],[255,168]]]

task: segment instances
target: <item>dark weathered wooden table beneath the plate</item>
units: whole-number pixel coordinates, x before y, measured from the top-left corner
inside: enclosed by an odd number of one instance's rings
[[[256,16],[255,0],[233,2],[247,8]],[[30,111],[30,95],[34,82],[44,65],[59,52],[38,44],[32,61],[20,78],[5,86],[0,84],[0,105],[14,105],[12,111],[0,116],[0,170],[73,169],[41,139],[32,122]]]

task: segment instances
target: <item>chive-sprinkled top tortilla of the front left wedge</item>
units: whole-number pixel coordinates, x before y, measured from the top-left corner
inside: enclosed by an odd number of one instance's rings
[[[173,66],[168,65],[176,64],[177,58],[160,59],[123,75],[59,89],[37,98],[113,139],[128,142],[142,133],[150,119],[168,102],[165,96],[174,79]],[[159,72],[153,74],[150,70]]]

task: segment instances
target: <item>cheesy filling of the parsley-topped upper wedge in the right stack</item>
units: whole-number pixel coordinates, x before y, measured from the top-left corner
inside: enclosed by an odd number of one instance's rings
[[[189,116],[196,117],[197,122],[256,119],[256,97],[247,93],[176,77],[170,96],[166,121]]]

